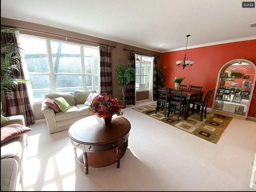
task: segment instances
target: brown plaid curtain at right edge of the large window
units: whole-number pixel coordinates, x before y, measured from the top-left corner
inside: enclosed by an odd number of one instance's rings
[[[112,94],[112,59],[109,46],[100,46],[100,93]]]

